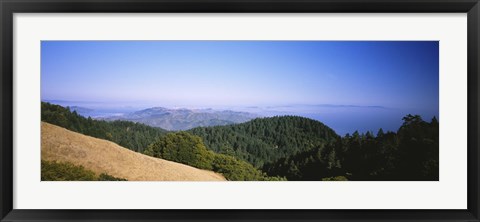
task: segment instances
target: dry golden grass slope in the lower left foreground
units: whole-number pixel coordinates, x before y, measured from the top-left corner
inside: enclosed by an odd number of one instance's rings
[[[217,173],[153,158],[110,141],[85,136],[42,122],[42,159],[71,162],[130,181],[225,180]]]

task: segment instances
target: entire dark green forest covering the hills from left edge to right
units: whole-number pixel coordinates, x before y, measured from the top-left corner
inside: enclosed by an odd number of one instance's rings
[[[228,180],[438,180],[438,120],[407,115],[396,132],[338,136],[298,116],[168,132],[85,118],[42,103],[42,121],[153,157],[222,173]]]

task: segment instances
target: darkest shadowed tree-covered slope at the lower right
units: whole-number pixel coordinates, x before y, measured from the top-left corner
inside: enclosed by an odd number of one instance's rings
[[[438,121],[407,115],[395,132],[354,132],[325,147],[279,159],[263,170],[288,180],[438,180]]]

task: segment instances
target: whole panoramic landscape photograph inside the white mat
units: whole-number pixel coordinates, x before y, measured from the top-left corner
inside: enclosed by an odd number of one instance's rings
[[[440,181],[439,41],[44,40],[40,54],[42,182]]]

